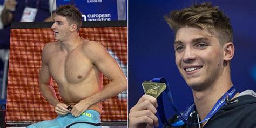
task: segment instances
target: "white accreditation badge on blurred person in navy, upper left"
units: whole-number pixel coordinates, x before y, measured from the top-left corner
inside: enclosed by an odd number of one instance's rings
[[[37,10],[37,8],[30,8],[26,6],[22,14],[21,22],[34,22]]]

